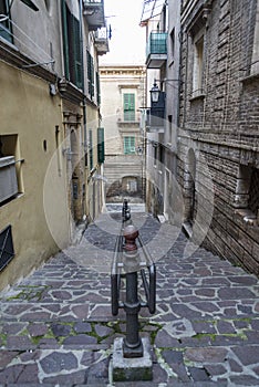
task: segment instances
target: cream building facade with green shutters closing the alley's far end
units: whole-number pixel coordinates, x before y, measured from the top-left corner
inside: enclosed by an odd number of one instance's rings
[[[106,201],[144,199],[144,144],[141,108],[145,105],[145,66],[102,65],[102,124],[105,127]]]

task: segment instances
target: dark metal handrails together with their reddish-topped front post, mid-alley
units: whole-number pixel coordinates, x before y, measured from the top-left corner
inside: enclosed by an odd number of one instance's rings
[[[148,307],[149,313],[154,314],[156,308],[156,268],[138,230],[131,222],[126,222],[131,220],[131,211],[126,200],[123,202],[122,216],[123,223],[116,239],[111,272],[112,314],[116,316],[120,308],[124,308],[126,312],[126,337],[123,341],[123,356],[134,358],[143,356],[143,343],[138,333],[138,312],[141,307]],[[125,243],[123,239],[125,239]],[[142,248],[142,258],[137,250],[136,240]],[[147,268],[149,279],[146,278],[144,268]],[[138,271],[146,302],[138,300]],[[126,280],[125,302],[120,301],[121,278]]]

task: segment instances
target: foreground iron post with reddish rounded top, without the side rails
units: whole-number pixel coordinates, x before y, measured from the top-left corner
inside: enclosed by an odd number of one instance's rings
[[[123,342],[124,357],[142,357],[143,344],[138,333],[138,312],[141,302],[137,296],[137,270],[139,257],[137,252],[136,238],[138,231],[134,226],[127,226],[124,230],[124,269],[126,272],[126,337]]]

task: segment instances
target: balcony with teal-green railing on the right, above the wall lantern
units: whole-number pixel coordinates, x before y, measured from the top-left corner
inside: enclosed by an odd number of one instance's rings
[[[147,69],[160,69],[167,60],[167,32],[153,31],[147,44]]]

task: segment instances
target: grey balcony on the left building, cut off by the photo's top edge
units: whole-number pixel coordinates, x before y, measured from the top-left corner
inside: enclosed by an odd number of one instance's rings
[[[86,18],[90,31],[96,31],[97,29],[105,27],[103,1],[104,0],[83,0],[83,14]]]

